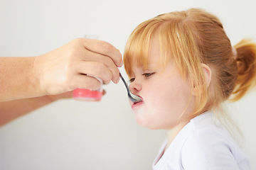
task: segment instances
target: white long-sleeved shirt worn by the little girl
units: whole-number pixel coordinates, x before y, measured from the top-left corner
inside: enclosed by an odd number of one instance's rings
[[[166,143],[153,163],[154,170],[250,170],[249,160],[212,112],[193,118],[164,152]]]

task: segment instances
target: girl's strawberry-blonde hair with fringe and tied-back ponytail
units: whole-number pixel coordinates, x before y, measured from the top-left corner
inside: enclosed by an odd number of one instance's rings
[[[124,68],[129,77],[133,61],[148,67],[153,39],[159,42],[161,51],[159,67],[166,67],[173,60],[191,89],[199,89],[191,118],[218,109],[232,94],[230,101],[238,101],[256,85],[255,43],[242,40],[234,46],[234,54],[222,23],[206,11],[191,8],[164,13],[139,24],[124,50]],[[202,63],[213,73],[209,87]]]

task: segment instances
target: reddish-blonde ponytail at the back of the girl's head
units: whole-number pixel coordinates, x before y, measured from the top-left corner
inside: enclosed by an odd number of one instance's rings
[[[238,76],[230,101],[238,101],[256,86],[256,44],[251,40],[241,40],[234,46],[238,65]]]

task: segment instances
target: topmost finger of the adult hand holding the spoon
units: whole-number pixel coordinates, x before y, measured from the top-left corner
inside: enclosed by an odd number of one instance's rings
[[[84,47],[91,52],[110,57],[117,67],[122,67],[122,54],[109,42],[84,38]]]

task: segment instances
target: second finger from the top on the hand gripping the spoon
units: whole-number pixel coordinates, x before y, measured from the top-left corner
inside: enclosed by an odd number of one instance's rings
[[[105,64],[105,66],[110,69],[110,72],[112,72],[112,81],[114,83],[119,82],[119,69],[114,64],[113,60],[110,59],[110,57],[106,57],[104,55],[97,54],[95,52],[87,51],[85,53],[85,56],[83,57],[85,62],[100,62],[102,64]],[[96,69],[96,68],[93,68]]]

